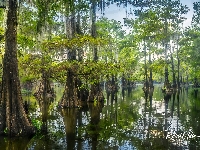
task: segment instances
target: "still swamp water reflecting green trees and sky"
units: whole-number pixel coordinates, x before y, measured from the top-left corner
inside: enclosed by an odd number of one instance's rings
[[[82,108],[57,109],[63,89],[48,111],[48,134],[32,139],[0,137],[0,150],[198,150],[200,149],[200,99],[193,89],[164,99],[161,85],[153,97],[142,86],[105,94],[104,103]],[[32,96],[30,117],[41,126],[41,112]]]

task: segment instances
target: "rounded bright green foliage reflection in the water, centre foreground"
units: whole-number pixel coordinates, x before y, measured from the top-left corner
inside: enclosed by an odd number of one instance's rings
[[[123,144],[123,141],[129,140],[134,129],[134,122],[138,119],[137,106],[121,103],[111,106],[108,110],[104,109],[105,117],[100,120],[98,130],[91,130],[91,124],[79,128],[79,133],[87,132],[91,137],[98,134],[98,139],[102,142],[108,142],[112,145]],[[114,144],[115,143],[115,144]]]

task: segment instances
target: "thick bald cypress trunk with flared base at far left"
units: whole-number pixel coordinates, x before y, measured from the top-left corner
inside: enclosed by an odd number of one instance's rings
[[[17,60],[17,0],[9,0],[0,105],[0,134],[34,133],[23,108]]]

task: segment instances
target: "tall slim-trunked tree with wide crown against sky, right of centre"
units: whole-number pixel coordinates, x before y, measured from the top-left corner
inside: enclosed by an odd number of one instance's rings
[[[162,36],[159,37],[159,42],[160,45],[163,45],[163,55],[164,55],[164,60],[165,60],[165,84],[164,87],[165,88],[169,88],[170,84],[169,84],[169,48],[170,48],[170,40],[172,35],[174,34],[172,32],[172,29],[176,28],[176,30],[178,29],[180,23],[182,23],[184,21],[184,17],[183,15],[186,14],[188,12],[188,7],[184,6],[183,4],[180,3],[180,0],[175,0],[175,1],[171,1],[171,0],[163,0],[163,1],[151,1],[149,3],[146,3],[146,5],[143,4],[143,6],[147,7],[147,9],[144,10],[145,11],[149,11],[152,10],[154,12],[154,18],[152,17],[148,17],[147,20],[150,18],[151,21],[154,20],[153,24],[155,24],[156,22],[160,22],[159,24],[162,24],[161,26],[157,26],[158,28],[156,28],[156,30],[152,27],[155,26],[148,26],[146,27],[146,29],[149,30],[145,30],[147,31],[147,35],[151,34],[152,31],[156,31],[157,33],[161,34]],[[142,16],[144,13],[142,11],[139,11],[139,16]],[[150,13],[152,14],[152,13]],[[145,20],[144,20],[145,21]],[[158,25],[159,25],[158,24]],[[156,24],[155,24],[156,25]],[[154,29],[154,30],[153,30]],[[158,38],[158,36],[157,36]]]

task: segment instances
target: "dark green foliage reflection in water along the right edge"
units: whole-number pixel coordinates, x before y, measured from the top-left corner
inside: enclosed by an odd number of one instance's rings
[[[171,99],[169,102],[169,109],[173,111],[173,116],[178,116],[176,135],[179,135],[183,139],[187,139],[190,145],[198,146],[199,139],[197,136],[200,135],[200,102],[194,97],[192,88],[188,90],[182,89],[179,100],[177,95],[175,99]],[[193,146],[192,146],[193,147]],[[192,148],[191,149],[194,149]]]

